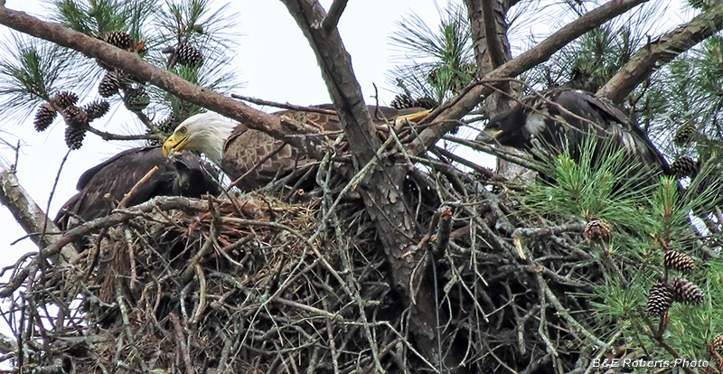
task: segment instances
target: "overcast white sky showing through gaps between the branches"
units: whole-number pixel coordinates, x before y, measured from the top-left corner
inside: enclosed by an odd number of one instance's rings
[[[222,5],[226,2],[213,3]],[[444,0],[440,3],[446,4]],[[331,1],[322,1],[322,4],[328,7]],[[30,14],[41,14],[41,18],[42,14],[45,14],[45,5],[39,1],[7,0],[6,6]],[[238,58],[234,61],[241,74],[239,80],[248,82],[236,93],[300,105],[330,101],[315,56],[280,1],[243,0],[230,2],[230,7],[239,14],[237,29],[234,30],[239,35]],[[390,33],[396,30],[395,22],[399,22],[405,14],[411,12],[419,14],[433,29],[437,27],[439,16],[432,0],[351,0],[347,5],[340,30],[346,48],[352,55],[353,68],[366,98],[369,99],[374,94],[372,84],[375,83],[380,88],[382,104],[389,103],[393,98],[394,88],[386,73],[391,67],[392,56],[399,56],[399,51],[390,47],[389,37]],[[555,20],[557,14],[553,8],[545,8],[545,12],[540,16],[550,21]],[[673,9],[666,16],[666,21],[675,24],[680,23],[683,18],[686,17]],[[8,29],[0,25],[0,42],[5,42],[8,36]],[[368,102],[373,101],[369,99]],[[132,120],[122,115],[123,111],[121,109],[115,114],[111,113],[113,117],[110,117],[110,120],[115,123],[108,127],[109,129],[117,129],[117,123],[128,123]],[[19,139],[23,143],[17,175],[23,187],[45,209],[67,148],[63,141],[64,128],[61,121],[56,120],[50,130],[41,134],[33,130],[32,122],[32,117],[24,121],[0,118],[0,137],[9,142]],[[76,192],[75,185],[81,173],[130,146],[132,145],[121,142],[104,142],[97,136],[89,135],[83,147],[70,154],[52,199],[49,215],[54,217],[61,205]],[[15,157],[14,153],[3,145],[0,145],[0,155],[11,161]],[[479,160],[475,160],[479,164],[490,164],[489,156],[479,157]],[[486,158],[483,160],[483,157]],[[0,266],[12,264],[22,254],[37,250],[28,239],[11,245],[16,239],[23,238],[25,232],[5,207],[0,207],[0,233]]]

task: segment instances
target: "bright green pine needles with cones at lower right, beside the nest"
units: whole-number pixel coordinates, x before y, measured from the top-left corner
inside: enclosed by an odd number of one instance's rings
[[[630,340],[629,349],[641,347],[655,360],[668,357],[668,352],[645,332],[664,333],[666,343],[683,357],[709,360],[705,342],[723,329],[723,319],[718,317],[723,308],[723,261],[703,250],[695,231],[704,225],[696,220],[696,226],[691,226],[689,217],[705,217],[720,205],[720,181],[706,183],[700,193],[693,192],[698,182],[682,190],[671,177],[661,177],[649,187],[633,188],[644,185],[649,175],[631,176],[624,151],[605,147],[600,151],[592,137],[581,148],[579,162],[569,154],[536,161],[540,174],[548,179],[531,182],[521,193],[521,201],[550,224],[596,218],[614,228],[605,242],[580,245],[606,269],[602,275],[588,274],[590,278],[581,279],[590,282],[593,290],[584,295],[594,307],[587,319],[591,332],[599,333],[596,336],[620,334]],[[594,160],[603,161],[595,164]],[[706,168],[701,172],[704,175],[720,175],[719,170]],[[712,232],[708,237],[719,238]],[[673,303],[671,325],[658,330],[659,317],[646,315],[644,305],[651,286],[678,276],[669,274],[662,265],[666,248],[703,263],[685,277],[700,287],[705,299],[702,304]]]

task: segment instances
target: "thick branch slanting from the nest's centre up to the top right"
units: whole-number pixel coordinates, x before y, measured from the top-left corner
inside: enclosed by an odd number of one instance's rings
[[[557,33],[553,33],[540,44],[522,53],[512,61],[493,70],[484,76],[484,79],[511,78],[520,75],[526,70],[547,61],[550,56],[569,42],[575,40],[583,33],[596,28],[598,25],[623,14],[635,5],[640,5],[646,0],[612,0],[605,5],[593,9],[587,14],[572,23],[568,23]],[[437,143],[440,137],[459,125],[459,118],[465,116],[481,103],[484,98],[490,95],[493,89],[487,86],[474,86],[467,90],[464,95],[455,98],[450,105],[435,110],[426,122],[434,121],[436,126],[429,126],[418,139],[409,145],[409,152],[421,154],[429,145]]]

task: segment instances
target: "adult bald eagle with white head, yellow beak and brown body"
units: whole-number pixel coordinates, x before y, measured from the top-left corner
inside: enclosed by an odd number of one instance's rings
[[[333,106],[316,108],[333,109]],[[416,120],[428,113],[424,108],[368,108],[371,118],[378,125],[383,124],[385,119],[393,120],[404,116]],[[342,130],[342,124],[336,115],[294,110],[284,110],[273,115],[292,117],[324,131]],[[231,180],[246,175],[236,184],[242,191],[263,187],[277,177],[309,163],[293,146],[285,145],[266,133],[232,122],[215,113],[202,113],[186,118],[175,128],[174,134],[166,139],[163,150],[166,156],[183,150],[205,154],[221,167]]]

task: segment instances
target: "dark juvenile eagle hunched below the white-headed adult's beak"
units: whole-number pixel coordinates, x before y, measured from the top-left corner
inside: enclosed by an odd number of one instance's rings
[[[158,170],[139,185],[127,201],[133,206],[155,196],[199,198],[218,195],[216,170],[197,155],[183,154],[169,162],[161,147],[127,149],[96,165],[80,176],[78,193],[63,205],[55,218],[59,229],[72,229],[88,220],[108,215],[118,201],[154,166]]]

